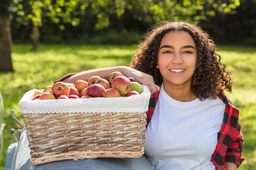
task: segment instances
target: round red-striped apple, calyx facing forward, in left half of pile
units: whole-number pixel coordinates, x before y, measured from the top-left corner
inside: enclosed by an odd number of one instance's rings
[[[68,96],[70,93],[70,89],[68,85],[64,82],[56,82],[52,85],[52,94],[58,98],[61,95]]]

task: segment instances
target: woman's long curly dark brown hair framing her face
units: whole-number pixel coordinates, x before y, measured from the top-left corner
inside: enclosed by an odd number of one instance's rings
[[[216,52],[215,43],[201,27],[185,21],[161,21],[154,25],[141,41],[136,54],[132,57],[130,67],[150,74],[156,85],[161,85],[163,76],[157,66],[157,53],[162,38],[167,32],[186,31],[195,41],[197,50],[196,70],[192,76],[192,93],[202,100],[203,98],[216,98],[227,90],[232,92],[232,78],[226,70],[226,65],[221,63],[221,56]]]

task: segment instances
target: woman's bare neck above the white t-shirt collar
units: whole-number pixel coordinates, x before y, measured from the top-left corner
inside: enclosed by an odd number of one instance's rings
[[[168,85],[164,83],[164,91],[170,97],[180,102],[191,102],[196,99],[190,86]]]

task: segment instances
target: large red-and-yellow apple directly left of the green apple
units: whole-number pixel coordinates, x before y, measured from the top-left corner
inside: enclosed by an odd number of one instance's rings
[[[127,77],[120,75],[112,81],[112,88],[117,89],[122,96],[125,96],[131,91],[132,84]]]

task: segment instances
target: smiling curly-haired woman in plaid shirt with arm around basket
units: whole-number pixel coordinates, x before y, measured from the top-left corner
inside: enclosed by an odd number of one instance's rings
[[[239,111],[224,94],[232,91],[232,79],[200,27],[161,21],[146,34],[130,67],[89,70],[59,81],[107,79],[114,71],[151,90],[145,154],[153,169],[232,170],[242,163]]]

